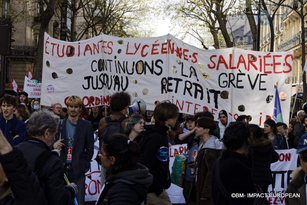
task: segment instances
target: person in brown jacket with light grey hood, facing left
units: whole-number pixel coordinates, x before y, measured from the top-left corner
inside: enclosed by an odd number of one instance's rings
[[[195,162],[197,205],[214,204],[211,190],[212,168],[223,149],[223,142],[210,135],[211,130],[215,129],[216,123],[211,118],[201,117],[196,120],[195,135],[200,137]]]

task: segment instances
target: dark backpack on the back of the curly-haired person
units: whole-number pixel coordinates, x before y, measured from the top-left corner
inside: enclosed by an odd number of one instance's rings
[[[110,116],[105,117],[107,125],[104,127],[101,137],[99,138],[99,150],[101,149],[104,137],[114,133],[125,134],[124,129],[121,126],[121,123],[127,118],[128,117],[126,116],[122,116],[117,120],[116,119],[111,120]],[[95,160],[98,162],[98,164],[101,165],[100,157],[98,155],[95,157]]]

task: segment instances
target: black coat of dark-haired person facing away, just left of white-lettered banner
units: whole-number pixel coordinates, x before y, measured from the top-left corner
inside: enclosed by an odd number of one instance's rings
[[[216,163],[212,170],[212,196],[214,204],[252,205],[254,198],[247,197],[247,193],[254,193],[254,183],[246,164],[247,157],[242,154],[225,150],[220,157],[220,167],[216,176]],[[228,201],[220,190],[216,177],[219,177],[224,185],[231,201]],[[241,193],[246,197],[231,197],[232,193]]]

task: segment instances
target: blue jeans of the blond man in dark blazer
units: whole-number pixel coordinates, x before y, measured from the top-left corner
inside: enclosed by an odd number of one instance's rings
[[[72,170],[72,166],[67,168],[64,167],[64,173],[66,174],[68,181],[70,183],[75,183],[78,187],[78,193],[76,195],[78,205],[85,205],[85,174],[76,179],[75,173]]]

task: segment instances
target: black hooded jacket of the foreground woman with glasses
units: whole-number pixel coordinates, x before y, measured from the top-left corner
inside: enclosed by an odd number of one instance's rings
[[[112,174],[107,178],[97,204],[141,204],[146,199],[152,180],[153,176],[142,164],[138,164],[137,170]]]

